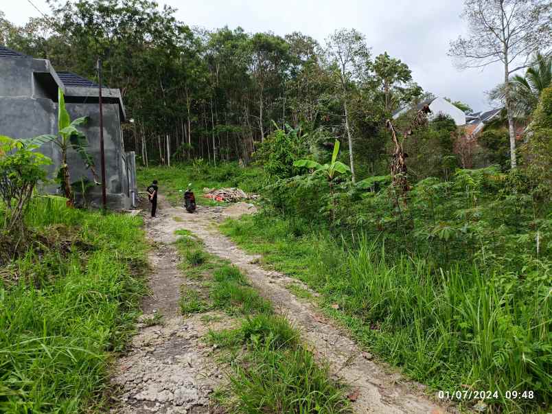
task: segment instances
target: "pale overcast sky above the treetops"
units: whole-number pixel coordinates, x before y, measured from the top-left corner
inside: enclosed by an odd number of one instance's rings
[[[31,0],[48,12],[46,0]],[[387,51],[413,71],[425,91],[461,100],[475,111],[489,108],[485,91],[501,82],[499,65],[459,71],[446,53],[448,43],[465,32],[461,0],[157,0],[178,9],[177,18],[207,29],[228,25],[247,32],[294,31],[323,42],[342,27],[365,34],[372,54]],[[28,0],[1,0],[0,10],[12,23],[40,16]]]

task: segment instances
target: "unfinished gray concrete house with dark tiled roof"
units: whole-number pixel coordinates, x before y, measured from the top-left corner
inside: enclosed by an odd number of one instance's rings
[[[99,87],[95,82],[69,72],[57,72],[47,59],[35,59],[0,45],[0,135],[12,138],[30,138],[58,133],[58,88],[65,94],[71,119],[89,117],[80,128],[89,140],[92,155],[100,175],[100,108]],[[107,204],[111,209],[128,209],[137,194],[135,153],[125,152],[121,123],[125,120],[124,105],[119,89],[102,88],[104,120],[104,148],[106,162]],[[60,167],[60,150],[47,143],[40,151],[50,157],[49,176]],[[71,181],[93,182],[82,159],[71,150],[68,155]],[[56,194],[56,185],[45,187]],[[76,188],[77,201],[101,207],[101,186],[92,186],[84,192]]]

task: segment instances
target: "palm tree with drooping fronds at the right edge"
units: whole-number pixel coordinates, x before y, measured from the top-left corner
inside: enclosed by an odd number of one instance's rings
[[[552,55],[537,53],[535,63],[527,69],[525,76],[510,78],[511,105],[514,116],[527,117],[535,111],[540,93],[552,84]],[[504,84],[499,84],[490,92],[492,100],[504,102]]]

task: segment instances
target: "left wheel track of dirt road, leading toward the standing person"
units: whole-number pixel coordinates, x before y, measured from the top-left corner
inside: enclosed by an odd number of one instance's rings
[[[200,315],[179,314],[180,290],[187,281],[178,268],[179,253],[173,243],[174,231],[182,226],[173,220],[174,211],[164,200],[160,207],[157,218],[144,218],[152,243],[148,255],[152,295],[143,300],[139,332],[128,353],[117,361],[112,384],[119,392],[111,413],[218,413],[209,395],[222,374],[213,363],[211,349],[200,341],[208,327]],[[156,321],[158,312],[163,323],[147,326],[144,322]]]

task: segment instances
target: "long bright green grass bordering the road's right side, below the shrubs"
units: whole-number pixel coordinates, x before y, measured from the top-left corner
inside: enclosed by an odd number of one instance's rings
[[[486,402],[511,413],[549,407],[552,314],[544,275],[523,281],[480,274],[470,264],[435,271],[419,257],[386,257],[378,241],[352,244],[295,227],[294,220],[257,215],[229,220],[222,231],[264,255],[264,265],[321,293],[327,314],[411,378],[435,390],[469,384],[498,391]],[[536,399],[510,400],[505,393],[514,389],[534,391]]]

